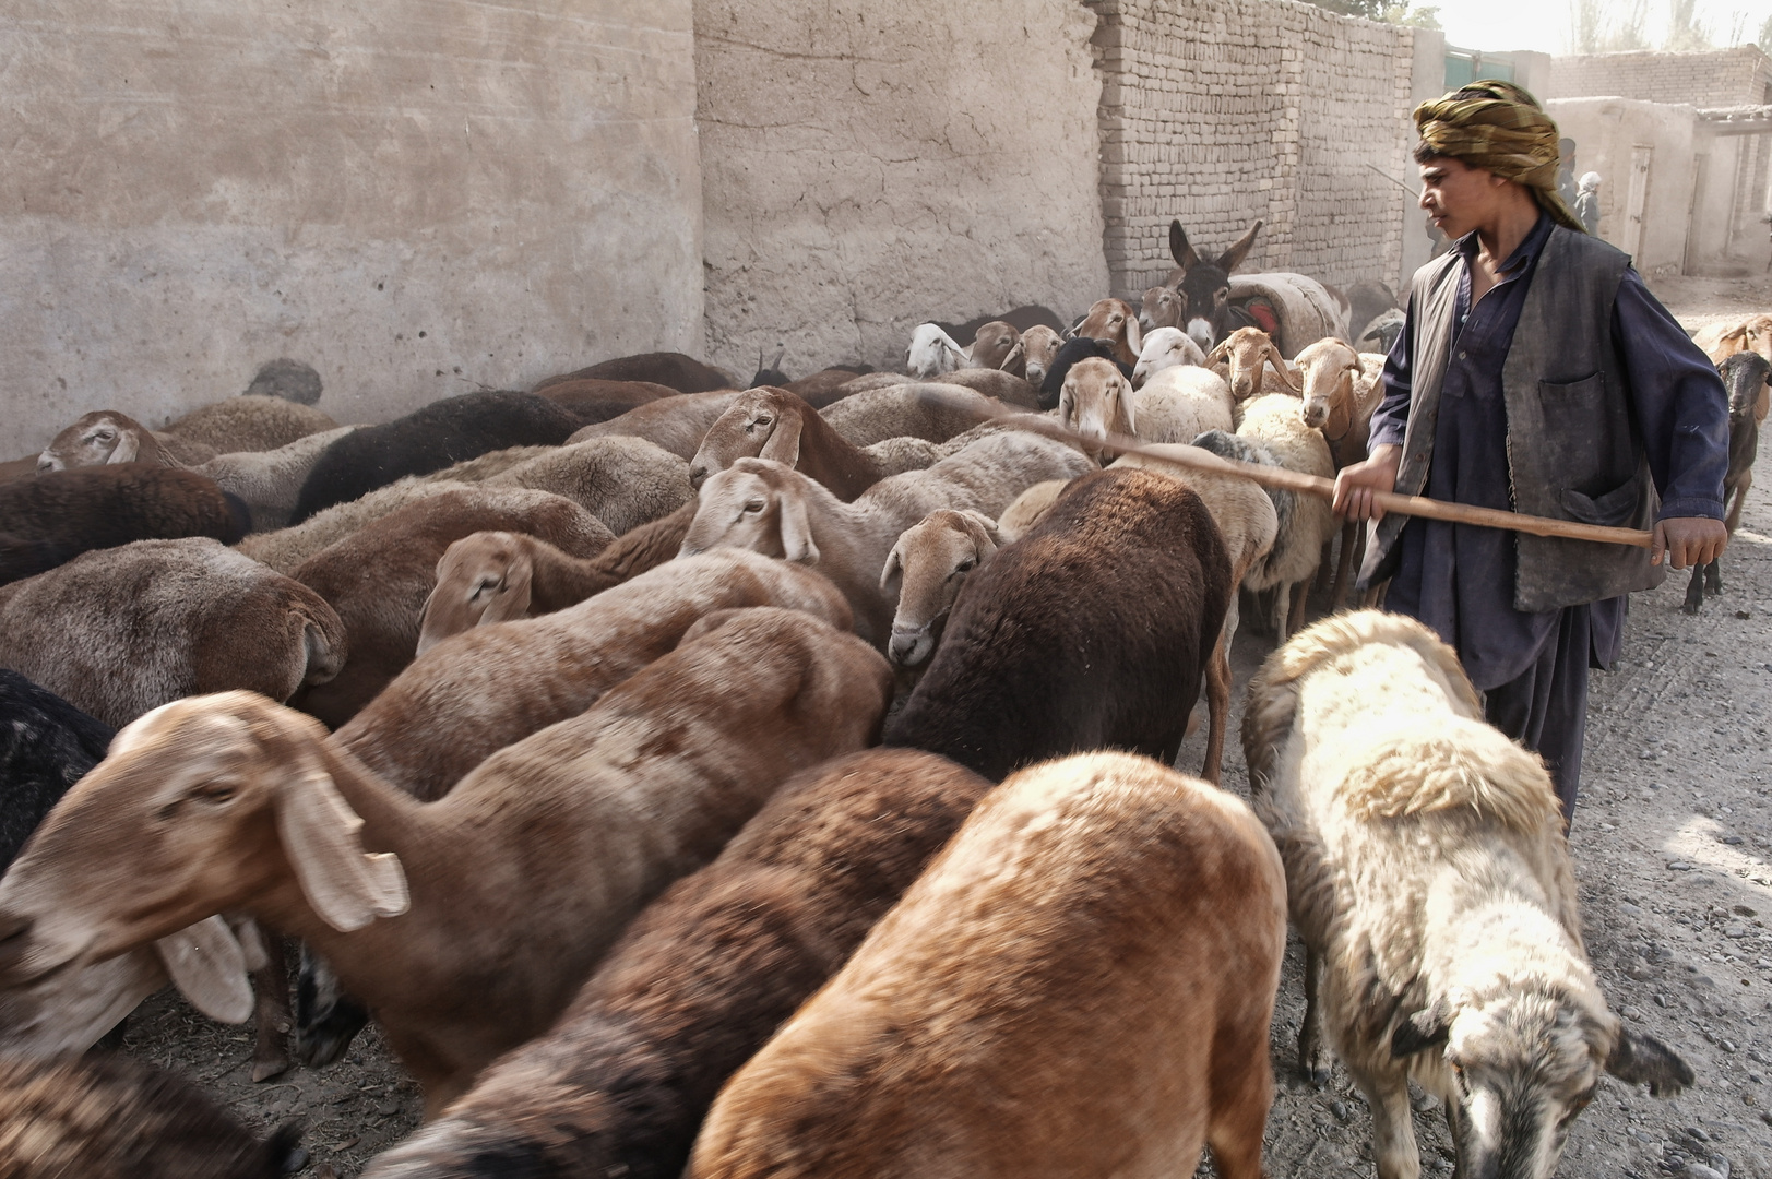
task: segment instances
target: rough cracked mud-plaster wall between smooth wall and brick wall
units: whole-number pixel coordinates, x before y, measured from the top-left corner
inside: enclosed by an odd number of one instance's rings
[[[1099,298],[1093,25],[1076,0],[696,0],[707,358],[897,369],[925,319]]]

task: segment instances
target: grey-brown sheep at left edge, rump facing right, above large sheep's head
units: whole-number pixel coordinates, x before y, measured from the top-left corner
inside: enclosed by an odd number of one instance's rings
[[[211,539],[82,553],[0,587],[0,667],[113,729],[204,691],[287,700],[344,661],[319,594]]]

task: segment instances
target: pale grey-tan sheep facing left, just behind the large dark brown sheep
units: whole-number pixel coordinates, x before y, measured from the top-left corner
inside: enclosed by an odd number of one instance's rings
[[[893,596],[881,589],[886,555],[905,528],[939,507],[996,516],[1031,484],[1074,479],[1090,459],[1061,441],[1010,431],[920,472],[882,479],[852,504],[769,459],[739,459],[702,484],[682,553],[746,548],[817,566],[856,613],[856,633],[884,649]]]

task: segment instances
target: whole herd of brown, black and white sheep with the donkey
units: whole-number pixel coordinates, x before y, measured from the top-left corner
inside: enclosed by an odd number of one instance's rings
[[[1177,466],[1333,475],[1380,397],[1345,300],[1226,321],[1235,250],[1069,332],[925,324],[905,374],[99,410],[0,472],[0,1174],[284,1174],[299,1128],[85,1053],[170,980],[257,1019],[255,1080],[374,1018],[425,1097],[377,1179],[1256,1179],[1288,917],[1299,1067],[1380,1179],[1409,1081],[1471,1175],[1550,1174],[1604,1073],[1689,1085],[1453,652],[1304,624],[1357,532]],[[1714,340],[1731,422],[1768,328]]]

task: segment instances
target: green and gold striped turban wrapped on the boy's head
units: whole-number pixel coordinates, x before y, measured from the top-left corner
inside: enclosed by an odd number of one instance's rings
[[[1441,156],[1531,188],[1558,225],[1586,232],[1556,190],[1556,122],[1524,89],[1473,82],[1416,106],[1416,131]]]

